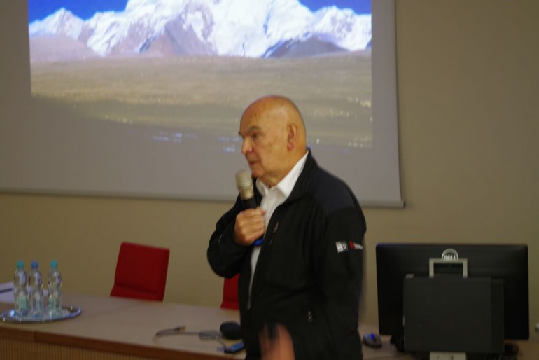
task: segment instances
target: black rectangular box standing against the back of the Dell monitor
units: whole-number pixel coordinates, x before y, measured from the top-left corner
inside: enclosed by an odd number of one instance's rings
[[[503,354],[503,281],[407,277],[403,301],[405,351]]]

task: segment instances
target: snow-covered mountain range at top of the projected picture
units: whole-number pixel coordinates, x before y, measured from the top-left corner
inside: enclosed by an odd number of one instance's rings
[[[61,8],[31,22],[29,34],[67,36],[101,56],[309,56],[367,48],[371,16],[313,13],[297,0],[130,0],[87,20]]]

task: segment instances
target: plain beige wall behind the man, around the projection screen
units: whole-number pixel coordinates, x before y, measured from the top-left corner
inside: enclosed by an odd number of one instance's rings
[[[529,246],[533,327],[539,322],[539,1],[396,3],[407,206],[365,209],[365,321],[377,321],[377,242],[517,242]],[[14,11],[7,7],[0,13]],[[25,64],[5,55],[6,36],[0,41],[0,75],[9,78]],[[7,106],[8,90],[0,90]],[[171,249],[166,301],[218,305],[222,282],[205,251],[229,206],[2,193],[0,281],[10,279],[18,258],[58,258],[66,291],[107,295],[119,244],[129,240]],[[531,338],[539,341],[533,330]]]

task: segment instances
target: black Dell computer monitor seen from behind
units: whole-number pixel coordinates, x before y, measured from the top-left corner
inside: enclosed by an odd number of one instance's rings
[[[528,247],[526,244],[381,243],[376,247],[379,332],[404,335],[403,280],[428,277],[429,259],[454,249],[468,259],[468,277],[503,281],[503,331],[507,340],[529,338]],[[397,345],[397,344],[395,344]]]

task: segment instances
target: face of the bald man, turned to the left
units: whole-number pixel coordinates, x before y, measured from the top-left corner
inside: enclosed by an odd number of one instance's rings
[[[239,125],[244,139],[241,153],[253,176],[267,186],[279,183],[287,171],[286,121],[279,115],[279,111],[247,109]]]

